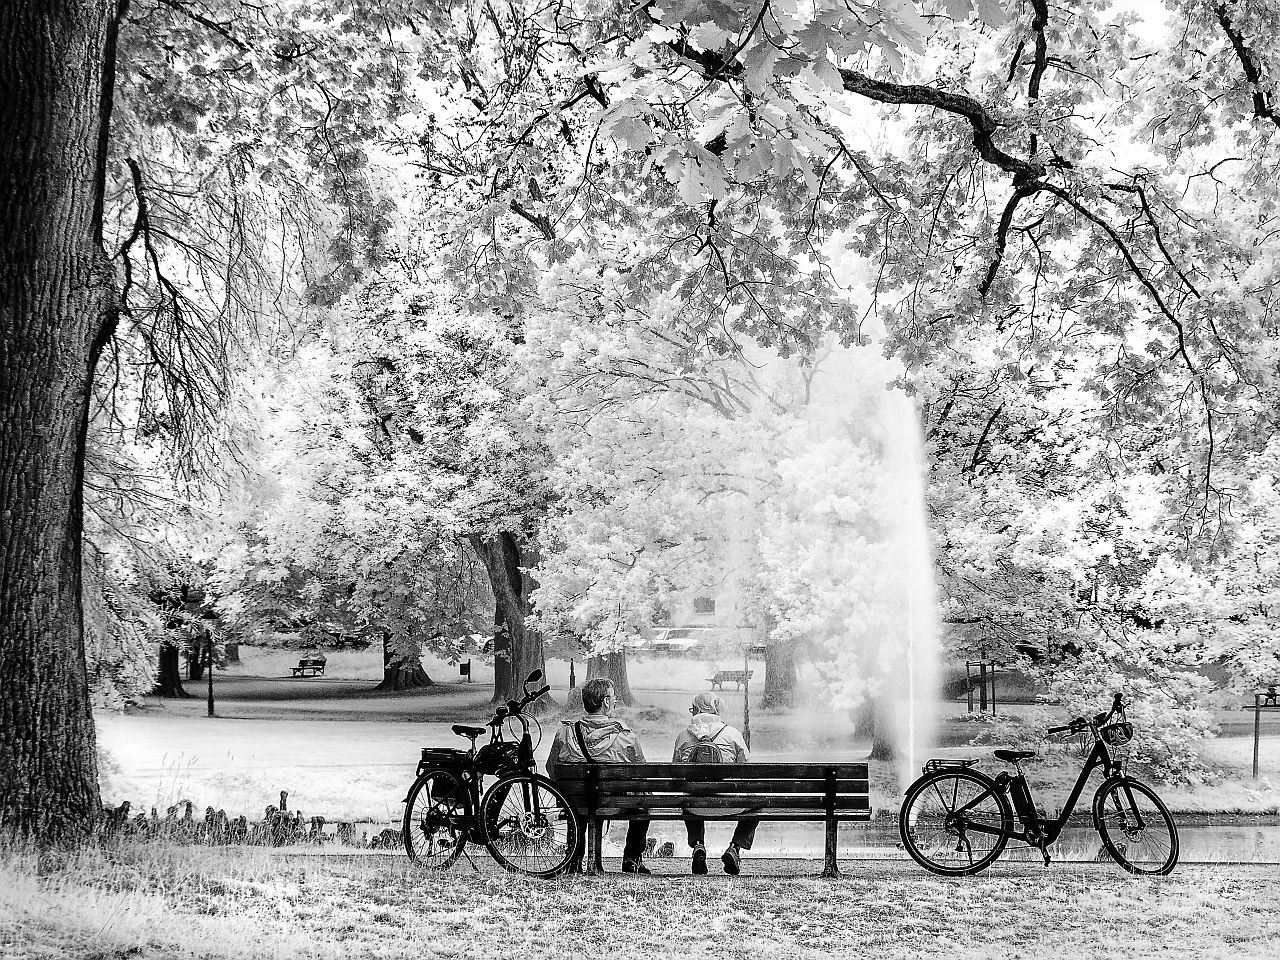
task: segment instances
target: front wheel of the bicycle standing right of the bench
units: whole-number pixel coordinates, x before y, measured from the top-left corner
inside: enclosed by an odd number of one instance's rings
[[[1178,864],[1178,827],[1156,791],[1112,777],[1093,795],[1093,826],[1111,859],[1129,873],[1164,877]]]

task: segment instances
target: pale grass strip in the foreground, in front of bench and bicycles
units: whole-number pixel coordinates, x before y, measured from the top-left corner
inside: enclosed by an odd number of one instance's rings
[[[796,876],[532,881],[466,861],[280,858],[156,844],[68,859],[0,852],[0,956],[1274,957],[1274,868],[908,864]],[[760,869],[762,864],[753,864]]]

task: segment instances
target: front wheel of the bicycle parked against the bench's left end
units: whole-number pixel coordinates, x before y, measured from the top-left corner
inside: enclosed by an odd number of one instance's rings
[[[556,877],[577,861],[577,812],[561,788],[536,773],[503,777],[480,801],[489,854],[508,870]]]

